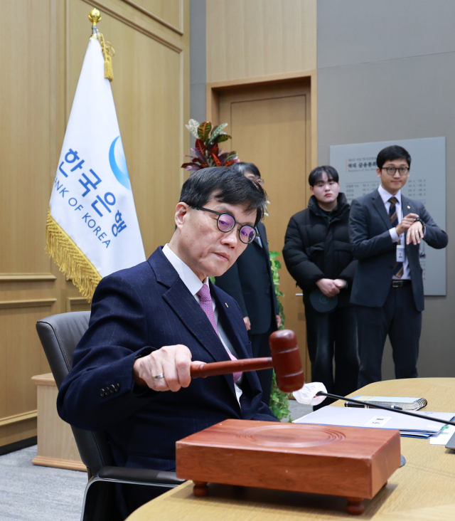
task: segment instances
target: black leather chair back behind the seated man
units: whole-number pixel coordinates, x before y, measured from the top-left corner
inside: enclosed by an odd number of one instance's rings
[[[52,315],[36,322],[36,330],[58,389],[73,367],[73,352],[88,328],[90,311]],[[89,478],[100,468],[114,465],[112,452],[103,432],[73,429],[74,438]]]

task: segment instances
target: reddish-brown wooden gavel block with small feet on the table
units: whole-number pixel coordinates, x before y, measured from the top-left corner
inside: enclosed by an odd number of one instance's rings
[[[361,514],[400,467],[400,432],[228,419],[176,443],[177,477],[344,496]]]

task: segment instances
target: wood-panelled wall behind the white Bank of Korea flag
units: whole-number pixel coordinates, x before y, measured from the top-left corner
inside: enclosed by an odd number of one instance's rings
[[[112,90],[146,255],[173,232],[189,144],[189,2],[0,0],[0,446],[36,435],[31,377],[49,370],[36,320],[88,308],[44,247],[93,6],[116,51]]]

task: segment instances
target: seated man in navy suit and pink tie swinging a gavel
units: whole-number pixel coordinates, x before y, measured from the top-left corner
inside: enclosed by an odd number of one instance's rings
[[[254,240],[264,202],[262,187],[242,175],[200,170],[183,184],[171,241],[100,281],[58,413],[106,431],[117,465],[173,470],[185,436],[228,418],[277,421],[255,372],[190,376],[191,365],[252,357],[240,308],[208,277]],[[124,512],[141,503],[126,501]]]

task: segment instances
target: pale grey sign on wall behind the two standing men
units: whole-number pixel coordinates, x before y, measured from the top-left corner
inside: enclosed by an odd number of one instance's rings
[[[402,194],[422,201],[437,225],[446,229],[446,138],[339,144],[330,147],[330,164],[340,175],[341,191],[348,202],[369,194],[380,185],[376,157],[385,147],[398,144],[411,156],[410,177]],[[425,295],[446,295],[446,250],[420,246]]]

